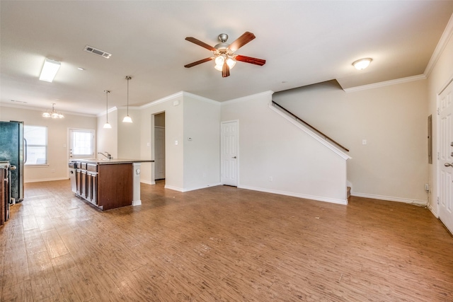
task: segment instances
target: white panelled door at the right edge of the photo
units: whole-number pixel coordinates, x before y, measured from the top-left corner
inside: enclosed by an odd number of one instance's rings
[[[453,233],[453,82],[439,96],[439,218]]]

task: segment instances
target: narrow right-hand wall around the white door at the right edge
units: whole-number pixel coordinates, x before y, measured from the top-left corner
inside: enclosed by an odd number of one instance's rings
[[[452,17],[453,18],[453,17]],[[442,54],[440,54],[439,59],[434,65],[432,71],[428,76],[428,115],[432,115],[432,133],[433,133],[433,158],[432,165],[429,165],[429,178],[431,183],[431,192],[430,192],[430,209],[438,216],[437,209],[437,196],[438,192],[438,181],[437,181],[437,160],[436,160],[436,147],[439,143],[437,141],[437,95],[440,93],[442,88],[445,88],[447,83],[453,79],[453,21],[450,19],[449,25],[445,34],[447,35],[445,48],[443,48]],[[442,45],[438,45],[442,46]]]

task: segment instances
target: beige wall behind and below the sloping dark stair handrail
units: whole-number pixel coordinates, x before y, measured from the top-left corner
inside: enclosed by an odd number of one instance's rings
[[[353,195],[427,203],[426,80],[350,93],[329,82],[275,93],[273,99],[350,149]]]

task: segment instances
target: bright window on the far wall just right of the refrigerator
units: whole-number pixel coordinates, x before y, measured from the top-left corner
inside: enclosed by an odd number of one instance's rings
[[[27,141],[25,165],[47,165],[47,127],[23,127],[23,137]]]

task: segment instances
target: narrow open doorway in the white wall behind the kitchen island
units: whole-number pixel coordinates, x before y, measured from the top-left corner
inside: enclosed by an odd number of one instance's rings
[[[165,112],[154,115],[154,180],[165,179]]]

